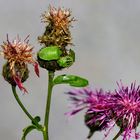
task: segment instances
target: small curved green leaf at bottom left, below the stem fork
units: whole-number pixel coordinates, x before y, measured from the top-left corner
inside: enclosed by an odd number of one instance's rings
[[[28,133],[30,133],[32,130],[36,129],[35,125],[29,125],[26,128],[23,129],[23,135],[21,140],[26,140],[26,136]]]

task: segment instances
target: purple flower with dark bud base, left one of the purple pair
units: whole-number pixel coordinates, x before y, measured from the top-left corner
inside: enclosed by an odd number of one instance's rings
[[[73,103],[73,109],[68,114],[70,116],[86,109],[85,124],[90,129],[88,138],[95,131],[105,130],[112,126],[112,103],[110,92],[104,92],[102,89],[92,91],[88,88],[81,90],[72,90],[68,92]]]

